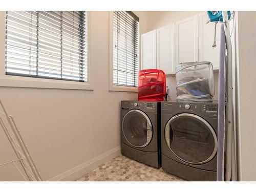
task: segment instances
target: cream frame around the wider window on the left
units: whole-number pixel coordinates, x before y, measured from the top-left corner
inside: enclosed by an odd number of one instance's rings
[[[24,76],[14,76],[6,75],[5,69],[5,32],[6,32],[6,11],[0,11],[0,87],[23,87],[23,88],[49,88],[49,89],[74,89],[74,90],[94,90],[93,82],[93,66],[90,62],[90,34],[91,34],[91,16],[90,11],[87,12],[87,82],[80,81],[70,81],[64,79],[46,79],[37,77],[24,77]]]

